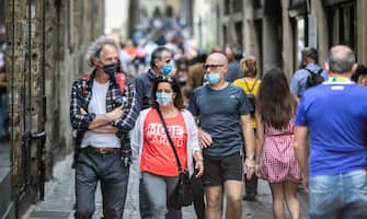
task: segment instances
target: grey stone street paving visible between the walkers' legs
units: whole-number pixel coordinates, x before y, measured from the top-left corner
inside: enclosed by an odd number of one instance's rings
[[[54,169],[54,180],[46,184],[45,201],[41,201],[32,206],[23,219],[68,219],[73,218],[74,204],[74,172],[70,168],[72,155],[56,164]],[[243,201],[243,217],[245,219],[267,219],[272,218],[272,197],[267,184],[264,181],[259,182],[257,201]],[[124,218],[138,219],[138,172],[137,166],[133,165],[130,170],[130,180],[125,206]],[[307,217],[306,195],[300,194],[301,200],[301,218]],[[96,195],[96,211],[93,219],[100,219],[102,216],[101,194]],[[183,209],[184,219],[195,219],[193,207]]]

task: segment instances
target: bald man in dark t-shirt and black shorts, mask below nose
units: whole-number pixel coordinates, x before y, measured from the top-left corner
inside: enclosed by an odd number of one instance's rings
[[[221,196],[225,188],[226,218],[240,219],[243,138],[246,177],[254,173],[255,142],[250,105],[243,90],[225,80],[228,59],[223,54],[209,55],[205,69],[208,84],[194,90],[188,110],[199,119],[198,136],[204,149],[206,217],[219,218],[222,215]]]

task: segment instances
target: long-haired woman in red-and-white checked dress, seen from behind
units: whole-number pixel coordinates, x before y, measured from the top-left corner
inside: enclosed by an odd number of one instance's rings
[[[274,218],[285,218],[284,203],[293,219],[300,215],[297,198],[300,168],[294,150],[297,99],[280,69],[265,73],[256,99],[256,173],[269,184]]]

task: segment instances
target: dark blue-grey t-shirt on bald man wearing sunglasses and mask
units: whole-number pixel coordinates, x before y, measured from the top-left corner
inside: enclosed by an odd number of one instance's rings
[[[225,157],[239,152],[243,147],[240,116],[249,114],[250,110],[243,90],[231,83],[219,91],[208,85],[195,89],[188,111],[199,117],[200,127],[213,139],[204,153]]]

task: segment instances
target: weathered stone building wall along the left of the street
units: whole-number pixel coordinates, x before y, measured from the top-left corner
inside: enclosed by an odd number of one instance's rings
[[[103,34],[99,0],[4,0],[11,169],[1,182],[0,218],[20,218],[42,199],[43,180],[72,151],[72,81],[89,71],[84,53]],[[45,170],[45,171],[44,171]]]

